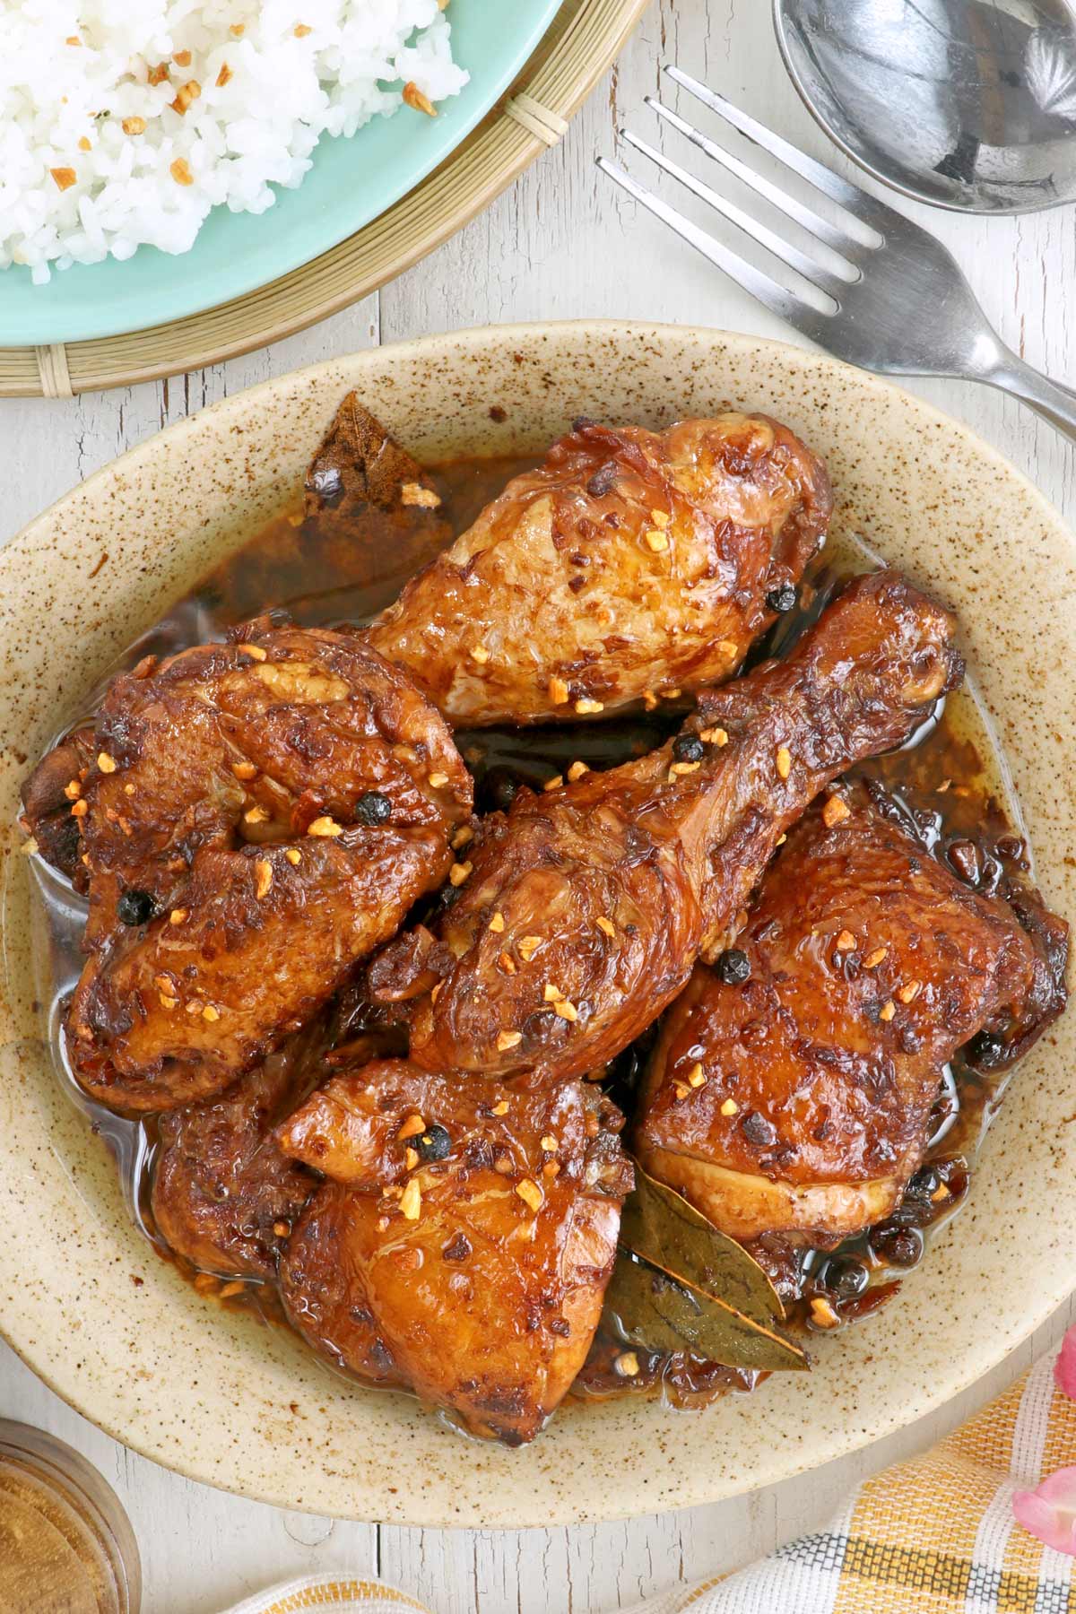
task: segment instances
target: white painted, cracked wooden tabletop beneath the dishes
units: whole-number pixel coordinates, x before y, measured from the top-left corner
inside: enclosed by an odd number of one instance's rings
[[[511,320],[639,316],[786,334],[749,297],[615,194],[594,168],[631,121],[658,63],[686,68],[816,152],[824,139],[784,77],[765,0],[655,0],[615,71],[548,152],[482,218],[381,295],[268,352],[216,370],[71,402],[0,405],[3,516],[11,533],[97,466],[161,426],[298,365],[427,331]],[[652,131],[650,131],[652,132]],[[652,136],[653,137],[653,136]],[[636,158],[632,166],[639,168]],[[649,178],[649,176],[647,176]],[[1076,381],[1076,216],[957,220],[926,213],[955,250],[1002,336]],[[1076,515],[1076,450],[1018,404],[973,386],[915,384],[968,420]],[[166,541],[166,526],[161,529]],[[978,1298],[968,1296],[968,1304]],[[282,1512],[194,1485],[136,1457],[63,1406],[0,1346],[0,1414],[71,1441],[115,1485],[137,1532],[147,1614],[215,1614],[313,1570],[382,1575],[436,1614],[607,1611],[681,1580],[732,1569],[821,1524],[861,1475],[936,1440],[1060,1338],[1073,1306],[987,1380],[858,1456],[737,1501],[587,1528],[518,1533],[405,1530]],[[984,1312],[986,1315],[986,1312]],[[881,1323],[884,1327],[884,1323]],[[682,1427],[690,1461],[690,1419]]]

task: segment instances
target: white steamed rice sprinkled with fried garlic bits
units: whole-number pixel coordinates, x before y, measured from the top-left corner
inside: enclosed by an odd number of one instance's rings
[[[436,103],[466,77],[437,0],[0,0],[0,268],[186,252],[402,84]]]

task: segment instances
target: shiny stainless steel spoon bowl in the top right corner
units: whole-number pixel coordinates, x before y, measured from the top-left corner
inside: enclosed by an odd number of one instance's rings
[[[1076,200],[1073,0],[774,0],[823,129],[903,195],[968,213]]]

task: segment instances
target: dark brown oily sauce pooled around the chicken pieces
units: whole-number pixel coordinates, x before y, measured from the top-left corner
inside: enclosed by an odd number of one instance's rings
[[[448,529],[465,531],[508,478],[536,463],[537,457],[505,455],[432,466]],[[219,639],[226,628],[269,608],[282,608],[305,626],[368,621],[397,597],[432,552],[429,529],[408,525],[398,515],[373,513],[363,523],[348,525],[331,510],[316,516],[286,510],[203,578],[161,623],[129,647],[111,671],[132,667],[148,652],[168,655],[190,644]],[[873,570],[878,563],[879,557],[857,541],[831,542],[808,570],[800,605],[778,621],[752,662],[784,654],[844,578]],[[98,694],[100,688],[87,691],[81,702],[82,713],[94,709]],[[663,744],[679,726],[686,709],[687,704],[663,704],[649,715],[598,725],[460,731],[457,741],[476,781],[476,810],[507,807],[521,783],[540,789],[576,759],[607,768],[640,755]],[[855,771],[879,781],[931,852],[976,889],[989,893],[1003,873],[1029,870],[1005,760],[973,683],[950,696],[945,710],[924,725],[907,747]],[[79,943],[85,904],[40,859],[32,859],[32,873],[37,996],[47,1017],[56,1072],[71,1101],[115,1156],[132,1219],[163,1257],[187,1272],[206,1299],[229,1309],[255,1311],[268,1322],[282,1323],[279,1301],[268,1285],[195,1272],[173,1256],[156,1233],[148,1209],[156,1149],[153,1119],[124,1120],[87,1099],[71,1077],[63,1049],[63,1010],[82,965]],[[644,1036],[628,1049],[610,1072],[613,1093],[629,1114],[645,1041]],[[792,1251],[781,1241],[774,1241],[773,1248],[753,1248],[786,1301],[794,1332],[810,1330],[811,1296],[824,1294],[840,1322],[849,1323],[897,1293],[902,1275],[920,1262],[932,1233],[960,1209],[1008,1075],[986,1077],[953,1062],[934,1109],[926,1164],[894,1215],[878,1228],[836,1251]],[[661,1393],[673,1406],[699,1406],[728,1390],[750,1390],[765,1377],[689,1356],[647,1356],[632,1348],[639,1370],[624,1378],[615,1365],[624,1349],[623,1340],[600,1330],[576,1382],[576,1393],[587,1398]]]

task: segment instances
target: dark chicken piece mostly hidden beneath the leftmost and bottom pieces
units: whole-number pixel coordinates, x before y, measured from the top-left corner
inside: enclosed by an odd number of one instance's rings
[[[318,1186],[273,1128],[308,1094],[310,1033],[298,1033],[216,1099],[160,1119],[152,1209],[165,1243],[202,1272],[276,1277],[292,1223]]]

